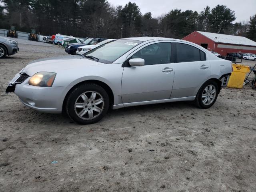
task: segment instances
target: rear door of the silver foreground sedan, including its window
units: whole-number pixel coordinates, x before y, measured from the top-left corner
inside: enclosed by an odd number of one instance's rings
[[[196,95],[198,86],[211,75],[206,53],[186,43],[175,43],[175,75],[171,98]]]

